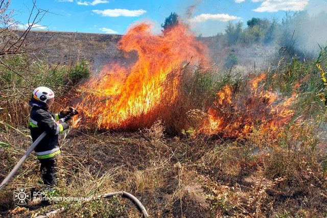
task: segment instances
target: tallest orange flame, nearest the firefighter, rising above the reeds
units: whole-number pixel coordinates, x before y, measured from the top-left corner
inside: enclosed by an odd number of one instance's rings
[[[119,49],[137,52],[134,65],[110,63],[82,87],[87,94],[79,107],[100,128],[150,124],[159,110],[175,101],[181,69],[200,59],[208,60],[206,46],[184,25],[161,36],[152,34],[148,23],[141,23],[122,37]]]

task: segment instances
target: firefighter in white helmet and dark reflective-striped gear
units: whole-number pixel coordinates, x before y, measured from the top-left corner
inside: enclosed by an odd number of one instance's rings
[[[47,185],[48,190],[52,190],[57,185],[57,155],[60,154],[58,146],[58,134],[62,133],[69,126],[73,125],[72,119],[64,123],[56,123],[60,118],[75,110],[73,107],[62,110],[58,114],[50,111],[54,103],[54,92],[47,87],[34,89],[30,105],[30,130],[33,142],[46,131],[45,137],[35,147],[34,151],[41,163],[40,172],[42,173],[43,184]],[[41,203],[47,204],[43,201]]]

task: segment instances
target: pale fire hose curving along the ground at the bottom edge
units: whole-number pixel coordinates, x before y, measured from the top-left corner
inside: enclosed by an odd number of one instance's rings
[[[100,199],[100,198],[108,198],[108,197],[112,197],[112,196],[115,196],[115,195],[122,195],[122,197],[126,197],[126,198],[129,198],[130,200],[132,200],[138,207],[138,209],[140,209],[143,213],[143,217],[144,218],[148,218],[149,217],[149,214],[147,212],[147,210],[145,209],[145,207],[142,205],[142,203],[140,201],[138,201],[138,199],[131,195],[130,193],[126,192],[126,191],[116,191],[116,192],[110,192],[110,193],[105,193],[104,195],[99,195],[99,196],[95,196],[89,200],[86,200],[86,202],[89,202],[89,201],[92,201],[92,200],[97,200],[97,199]],[[40,216],[36,216],[35,218],[45,218],[45,217],[48,217],[50,215],[54,215],[54,214],[57,214],[61,211],[65,210],[64,207],[61,207],[59,209],[56,209],[56,210],[53,210],[49,213],[46,213],[45,215],[40,215]]]

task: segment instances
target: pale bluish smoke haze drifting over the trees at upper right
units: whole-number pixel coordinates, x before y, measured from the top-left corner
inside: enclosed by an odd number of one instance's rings
[[[238,34],[224,33],[200,37],[200,40],[207,43],[216,64],[227,67],[225,63],[232,55],[235,57],[234,67],[243,66],[253,72],[269,68],[279,58],[277,54],[297,56],[302,61],[317,57],[319,45],[327,43],[325,20],[327,12],[323,10],[317,14],[310,11],[288,12],[281,19],[261,19],[262,22],[253,30],[243,24]],[[231,29],[231,32],[237,31],[236,26],[234,23],[235,29]],[[255,38],[256,33],[261,38]],[[237,38],[230,43],[231,37],[235,35]]]

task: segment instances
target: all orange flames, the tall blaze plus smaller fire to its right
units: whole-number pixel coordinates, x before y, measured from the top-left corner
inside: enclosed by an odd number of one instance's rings
[[[193,102],[185,106],[181,78],[185,72],[192,74],[185,70],[189,65],[209,58],[207,47],[182,24],[163,35],[152,34],[147,23],[135,25],[119,41],[118,48],[131,59],[137,54],[137,59],[125,65],[110,62],[81,87],[83,101],[78,107],[87,123],[99,128],[137,130],[162,117],[178,125],[187,120],[175,118],[189,110],[199,132],[242,137],[257,127],[276,130],[294,114],[289,108],[295,94],[286,99],[266,90],[266,74],[252,75],[250,85],[239,92],[225,85],[210,106],[191,114],[190,110],[198,108]]]

